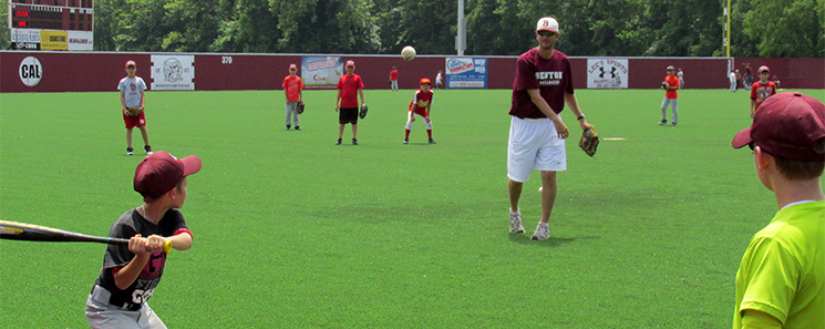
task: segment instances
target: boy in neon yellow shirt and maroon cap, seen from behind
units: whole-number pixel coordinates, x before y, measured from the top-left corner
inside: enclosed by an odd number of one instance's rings
[[[732,145],[751,146],[780,208],[742,257],[733,328],[825,328],[825,105],[775,94]]]

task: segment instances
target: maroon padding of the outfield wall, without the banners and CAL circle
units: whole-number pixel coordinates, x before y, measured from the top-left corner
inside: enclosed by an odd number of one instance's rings
[[[157,53],[172,54],[172,53]],[[184,53],[182,53],[184,54]],[[280,89],[290,63],[300,66],[302,54],[202,54],[195,56],[196,90],[276,90]],[[308,54],[323,56],[326,54]],[[20,81],[20,63],[35,56],[43,66],[43,76],[35,86]],[[355,61],[355,73],[370,90],[390,89],[390,70],[399,70],[401,89],[417,89],[421,78],[435,80],[444,70],[445,56],[420,55],[411,62],[398,55],[340,55]],[[120,52],[50,52],[0,51],[0,92],[86,92],[116,91],[125,76],[127,60],[137,62],[137,75],[152,83],[152,53]],[[228,60],[230,58],[230,61]],[[511,89],[515,76],[516,56],[487,58],[487,88]],[[658,89],[666,68],[673,65],[684,71],[689,89],[726,89],[728,59],[725,58],[629,58],[630,89]],[[755,72],[760,65],[771,66],[772,75],[782,88],[825,89],[825,59],[734,59],[734,66],[751,63]],[[587,88],[587,58],[570,58],[574,88]],[[300,74],[300,72],[299,72]]]

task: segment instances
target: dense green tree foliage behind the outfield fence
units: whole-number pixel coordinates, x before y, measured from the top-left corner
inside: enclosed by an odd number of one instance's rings
[[[825,56],[825,0],[735,0],[734,56]],[[570,55],[718,56],[728,0],[465,0],[468,55],[517,55],[556,17]],[[0,13],[8,8],[0,10]],[[97,0],[95,50],[455,53],[457,0]],[[10,42],[7,25],[0,44]]]

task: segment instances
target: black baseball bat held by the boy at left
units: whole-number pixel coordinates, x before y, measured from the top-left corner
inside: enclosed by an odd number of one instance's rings
[[[50,241],[50,243],[99,243],[117,246],[128,246],[128,239],[91,236],[81,233],[68,232],[47,226],[0,220],[0,238],[25,241]],[[163,245],[163,251],[172,251],[172,241]]]

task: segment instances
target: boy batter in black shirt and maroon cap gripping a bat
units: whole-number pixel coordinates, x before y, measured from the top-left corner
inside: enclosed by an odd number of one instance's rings
[[[103,268],[86,299],[92,328],[166,328],[148,299],[161,282],[166,265],[164,244],[192,248],[193,235],[178,210],[186,202],[187,176],[200,171],[200,158],[176,158],[159,151],[135,169],[134,189],[143,204],[112,224],[110,237],[127,238],[128,246],[109,245]]]

